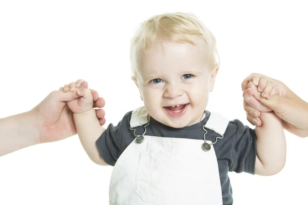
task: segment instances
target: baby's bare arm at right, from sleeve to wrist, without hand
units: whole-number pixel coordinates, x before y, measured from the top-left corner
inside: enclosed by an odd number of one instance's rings
[[[274,112],[263,112],[260,119],[263,125],[256,127],[255,173],[264,176],[274,175],[279,173],[285,165],[286,142],[282,120]]]

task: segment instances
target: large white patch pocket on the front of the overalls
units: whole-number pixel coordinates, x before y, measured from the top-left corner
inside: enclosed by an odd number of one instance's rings
[[[199,165],[199,158],[141,153],[135,192],[148,203],[183,204],[187,198],[202,194],[204,170]],[[194,204],[194,200],[189,201]]]

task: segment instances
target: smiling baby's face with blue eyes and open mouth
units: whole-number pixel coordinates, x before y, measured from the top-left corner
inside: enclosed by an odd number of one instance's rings
[[[145,108],[169,127],[200,122],[214,88],[218,69],[208,68],[204,42],[196,42],[194,46],[161,40],[139,56],[137,85]]]

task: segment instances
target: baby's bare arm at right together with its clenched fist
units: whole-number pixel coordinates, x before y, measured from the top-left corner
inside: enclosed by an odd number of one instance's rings
[[[246,85],[244,85],[245,83]],[[243,82],[242,88],[243,85],[250,88],[260,97],[268,99],[274,95],[283,95],[285,93],[281,85],[266,76],[252,75],[248,81]],[[245,92],[248,91],[246,90]],[[256,127],[257,157],[255,173],[258,175],[274,175],[280,172],[285,165],[286,142],[282,120],[272,109],[260,103],[256,105],[259,105],[258,110],[261,111],[260,119],[263,125]]]

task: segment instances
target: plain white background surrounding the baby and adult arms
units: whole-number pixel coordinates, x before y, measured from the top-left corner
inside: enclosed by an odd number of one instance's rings
[[[182,11],[196,14],[217,38],[221,68],[207,109],[253,127],[241,91],[252,72],[282,80],[308,101],[307,6],[287,2],[1,1],[0,118],[83,78],[106,100],[105,126],[117,124],[142,105],[130,80],[134,29],[152,15]],[[229,174],[234,204],[307,203],[308,138],[285,134],[279,174]],[[29,147],[0,158],[0,204],[107,204],[111,171],[90,161],[76,135]]]

